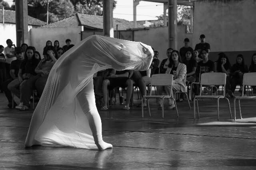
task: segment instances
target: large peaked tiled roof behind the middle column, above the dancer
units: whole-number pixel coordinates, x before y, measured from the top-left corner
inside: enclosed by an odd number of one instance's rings
[[[133,28],[133,23],[127,20],[113,18],[114,29],[118,24],[118,30],[126,30],[128,28]],[[76,14],[74,16],[65,18],[63,20],[44,25],[41,28],[53,28],[53,27],[68,27],[68,26],[88,26],[96,29],[103,29],[103,17],[93,16],[87,14]],[[137,27],[144,27],[141,24],[137,24]]]

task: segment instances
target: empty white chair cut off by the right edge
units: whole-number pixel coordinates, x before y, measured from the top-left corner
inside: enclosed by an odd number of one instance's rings
[[[234,98],[234,120],[236,120],[236,99],[238,99],[238,106],[240,112],[240,119],[242,119],[240,100],[256,100],[256,96],[244,96],[244,86],[256,86],[256,72],[244,73],[242,96],[235,96]]]

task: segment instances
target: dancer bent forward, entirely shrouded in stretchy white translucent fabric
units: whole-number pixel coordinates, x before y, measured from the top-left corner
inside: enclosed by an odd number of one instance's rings
[[[107,149],[92,76],[102,69],[148,70],[153,50],[140,42],[92,35],[68,50],[52,67],[34,110],[25,147],[44,145]]]

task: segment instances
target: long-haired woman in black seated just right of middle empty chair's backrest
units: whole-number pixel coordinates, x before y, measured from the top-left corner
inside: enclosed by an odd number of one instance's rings
[[[234,97],[234,94],[231,91],[231,86],[230,86],[230,69],[231,69],[231,64],[228,60],[228,57],[224,53],[219,53],[218,54],[218,61],[215,63],[216,65],[216,70],[215,72],[224,72],[226,73],[226,86],[225,86],[225,91],[226,91],[226,96],[230,96],[231,98]]]

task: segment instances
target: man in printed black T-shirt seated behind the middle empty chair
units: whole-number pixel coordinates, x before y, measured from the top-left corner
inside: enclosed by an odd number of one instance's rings
[[[198,62],[198,67],[196,70],[196,82],[199,82],[199,78],[201,76],[202,73],[206,73],[206,72],[214,72],[214,62],[208,59],[208,50],[207,49],[203,49],[201,51],[201,57],[202,57],[202,61]],[[208,93],[208,88],[204,88],[204,93]],[[196,87],[195,90],[195,94],[198,95],[199,94],[199,86]]]

